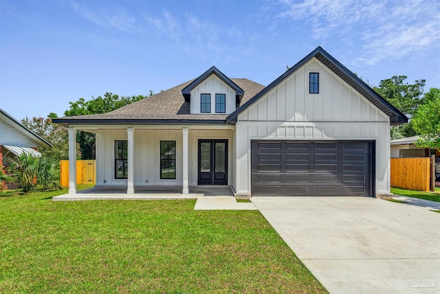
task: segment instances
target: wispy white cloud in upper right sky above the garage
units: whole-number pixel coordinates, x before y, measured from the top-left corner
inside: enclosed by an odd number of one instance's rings
[[[313,39],[349,37],[362,48],[354,64],[375,65],[440,48],[438,1],[281,0],[272,8],[274,21],[305,23]]]

